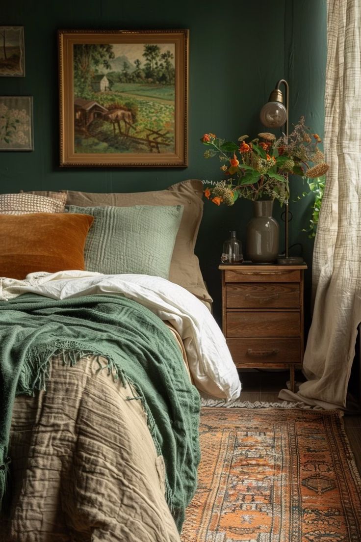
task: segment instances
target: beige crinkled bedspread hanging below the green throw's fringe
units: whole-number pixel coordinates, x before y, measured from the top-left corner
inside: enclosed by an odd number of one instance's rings
[[[141,402],[97,369],[54,359],[48,391],[17,397],[1,542],[180,540]]]

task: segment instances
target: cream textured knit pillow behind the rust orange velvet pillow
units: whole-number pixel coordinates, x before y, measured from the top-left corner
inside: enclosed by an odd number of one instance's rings
[[[58,199],[28,194],[26,192],[0,194],[0,214],[2,215],[28,215],[32,212],[64,212],[64,207],[64,197]]]

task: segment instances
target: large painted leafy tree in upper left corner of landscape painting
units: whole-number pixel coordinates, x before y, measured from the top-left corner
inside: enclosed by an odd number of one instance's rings
[[[111,44],[94,45],[89,43],[74,45],[74,95],[87,98],[91,92],[91,80],[99,66],[110,69],[114,59]]]

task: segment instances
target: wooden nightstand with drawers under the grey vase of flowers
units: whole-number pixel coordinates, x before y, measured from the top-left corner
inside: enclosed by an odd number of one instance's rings
[[[222,324],[239,368],[294,369],[304,351],[303,287],[306,264],[220,265]]]

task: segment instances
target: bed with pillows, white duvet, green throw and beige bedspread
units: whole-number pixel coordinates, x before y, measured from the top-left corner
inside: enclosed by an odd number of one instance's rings
[[[0,195],[4,542],[180,540],[200,393],[240,393],[194,255],[201,194]]]

